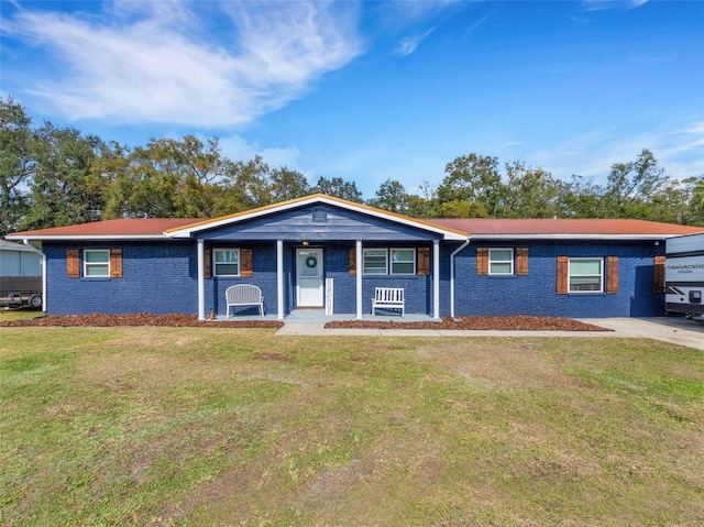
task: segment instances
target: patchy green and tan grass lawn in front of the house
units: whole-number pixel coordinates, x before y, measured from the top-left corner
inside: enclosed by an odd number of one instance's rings
[[[0,525],[701,525],[650,340],[0,329]]]

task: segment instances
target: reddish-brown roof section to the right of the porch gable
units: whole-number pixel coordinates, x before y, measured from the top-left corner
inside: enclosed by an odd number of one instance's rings
[[[441,226],[474,235],[679,235],[704,232],[704,227],[645,220],[436,218]]]

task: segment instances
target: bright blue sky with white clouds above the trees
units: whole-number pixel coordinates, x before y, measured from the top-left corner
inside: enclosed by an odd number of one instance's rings
[[[704,175],[704,2],[2,0],[0,94],[130,146],[437,186],[472,152],[605,182]]]

